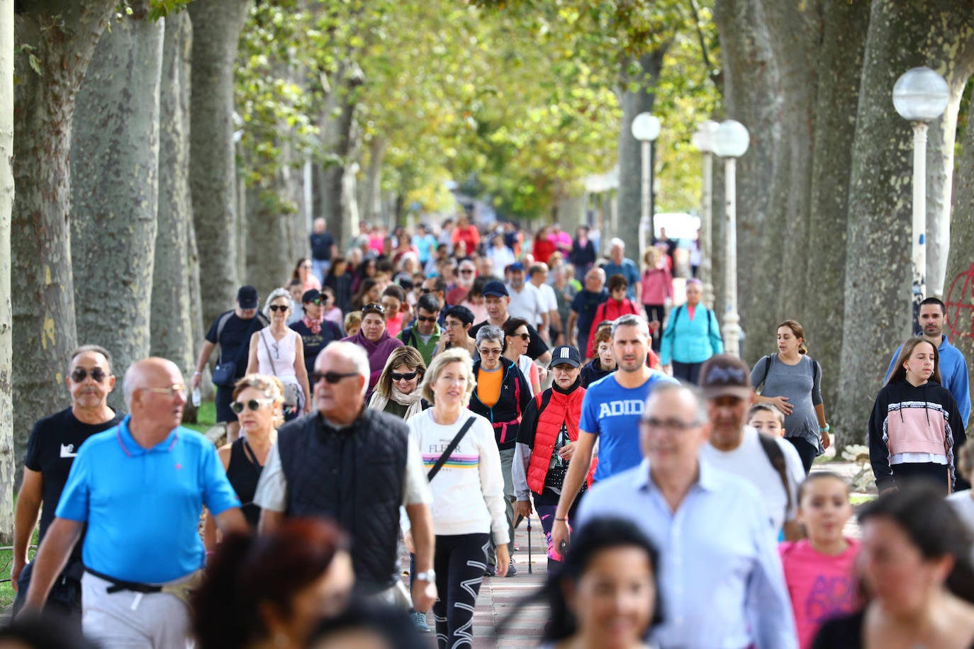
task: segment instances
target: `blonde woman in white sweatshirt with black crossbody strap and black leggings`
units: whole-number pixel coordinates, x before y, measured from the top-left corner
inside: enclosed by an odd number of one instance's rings
[[[464,349],[437,354],[423,379],[423,397],[432,408],[415,415],[409,443],[415,444],[432,474],[432,521],[436,534],[433,578],[439,599],[432,606],[440,649],[473,646],[473,606],[487,565],[490,534],[497,544],[497,572],[506,574],[507,520],[501,455],[494,428],[467,406],[473,392],[472,360]],[[466,428],[466,430],[464,430]],[[451,443],[460,436],[450,451]],[[449,451],[449,452],[447,452]],[[445,461],[440,462],[442,456]],[[406,534],[407,543],[412,539]]]

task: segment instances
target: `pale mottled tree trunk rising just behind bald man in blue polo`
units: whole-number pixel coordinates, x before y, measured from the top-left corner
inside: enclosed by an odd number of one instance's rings
[[[72,133],[74,297],[78,340],[111,351],[123,376],[149,354],[159,190],[163,20],[148,0],[98,41]],[[109,405],[124,410],[122,391]]]

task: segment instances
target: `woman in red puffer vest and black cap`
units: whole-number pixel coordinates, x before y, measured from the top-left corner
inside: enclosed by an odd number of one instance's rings
[[[560,567],[562,560],[561,554],[551,546],[551,525],[568,464],[579,440],[585,388],[581,387],[581,354],[575,347],[565,344],[552,349],[548,367],[554,382],[535,395],[524,409],[511,473],[517,498],[516,514],[531,515],[529,492],[534,494],[535,508],[547,539],[548,572],[551,573]],[[581,492],[591,484],[594,468],[593,460]],[[569,520],[575,517],[580,502],[581,493],[569,511]]]

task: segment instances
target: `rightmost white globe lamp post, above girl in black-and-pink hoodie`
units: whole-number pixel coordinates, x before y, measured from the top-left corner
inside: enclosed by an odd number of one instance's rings
[[[944,114],[949,98],[947,82],[928,67],[907,70],[893,86],[893,106],[914,128],[912,331],[926,297],[926,125]]]

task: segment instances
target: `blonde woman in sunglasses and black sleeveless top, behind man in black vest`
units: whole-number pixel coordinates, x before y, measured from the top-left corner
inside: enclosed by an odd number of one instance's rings
[[[230,409],[240,421],[241,436],[216,451],[230,486],[241,499],[244,518],[254,532],[260,520],[260,508],[253,504],[253,494],[267,455],[278,441],[278,426],[284,422],[283,392],[281,379],[277,377],[248,374],[237,381]],[[207,552],[216,547],[216,526],[208,513],[203,540]]]

